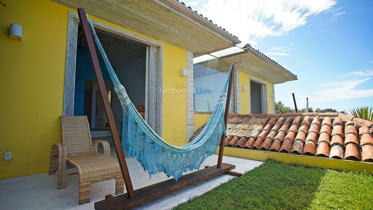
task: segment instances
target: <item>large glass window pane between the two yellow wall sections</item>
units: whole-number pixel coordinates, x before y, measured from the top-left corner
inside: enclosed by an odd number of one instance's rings
[[[230,64],[228,65],[222,59],[211,55],[203,55],[193,59],[195,111],[214,110],[228,78],[229,67]]]

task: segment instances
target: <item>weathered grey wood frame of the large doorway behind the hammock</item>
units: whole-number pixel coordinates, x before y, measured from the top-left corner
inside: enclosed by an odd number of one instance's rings
[[[151,128],[162,137],[162,88],[163,88],[163,44],[132,34],[128,31],[91,20],[93,25],[101,30],[146,44],[147,47],[147,78],[145,87],[145,116]],[[65,87],[63,94],[63,115],[73,115],[75,90],[76,45],[78,38],[78,14],[69,11],[68,35],[66,47]]]

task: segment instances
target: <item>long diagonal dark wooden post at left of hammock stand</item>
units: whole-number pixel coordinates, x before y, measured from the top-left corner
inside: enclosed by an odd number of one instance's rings
[[[107,119],[107,123],[109,124],[110,133],[112,134],[115,152],[117,154],[120,170],[122,171],[124,183],[126,185],[127,195],[128,197],[131,198],[135,196],[134,188],[132,186],[131,177],[129,176],[126,159],[124,157],[118,131],[116,129],[113,111],[110,106],[109,98],[107,96],[104,79],[102,77],[100,64],[98,63],[98,58],[97,58],[96,50],[94,47],[93,38],[91,35],[91,31],[90,31],[90,27],[88,24],[88,19],[87,19],[85,10],[83,8],[78,8],[78,15],[79,15],[80,23],[82,25],[82,31],[84,33],[85,43],[87,44],[87,50],[90,55],[94,75],[97,80],[98,89],[100,90],[100,95],[103,99],[106,119]]]

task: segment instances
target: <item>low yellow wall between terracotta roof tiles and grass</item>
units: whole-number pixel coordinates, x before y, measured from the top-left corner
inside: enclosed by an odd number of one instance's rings
[[[219,146],[216,154],[219,153]],[[338,160],[332,158],[312,157],[305,155],[293,155],[280,152],[260,151],[253,149],[241,149],[233,147],[224,147],[224,155],[232,157],[240,157],[251,160],[265,161],[267,158],[285,163],[299,163],[311,167],[330,168],[336,170],[349,170],[352,172],[363,172],[373,174],[373,163],[352,161],[352,160]],[[224,162],[224,158],[223,158]]]

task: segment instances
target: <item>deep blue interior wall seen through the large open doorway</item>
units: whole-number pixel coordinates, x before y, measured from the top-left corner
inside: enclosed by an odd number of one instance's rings
[[[104,81],[112,82],[103,59],[98,58]],[[113,67],[114,71],[116,69]],[[87,49],[76,50],[74,115],[83,115],[85,79],[95,80]]]

